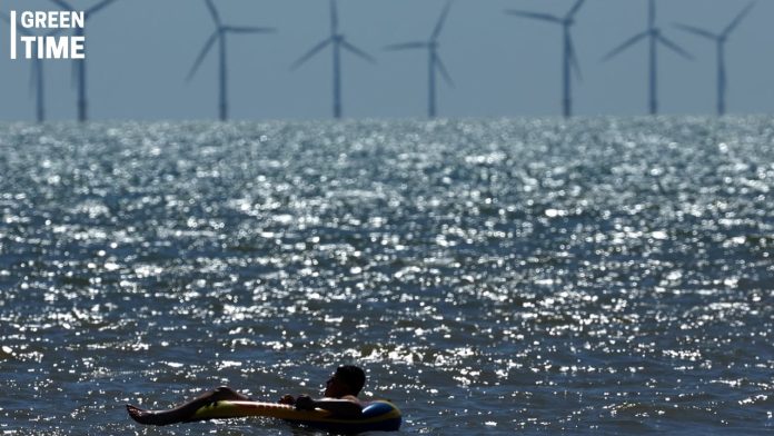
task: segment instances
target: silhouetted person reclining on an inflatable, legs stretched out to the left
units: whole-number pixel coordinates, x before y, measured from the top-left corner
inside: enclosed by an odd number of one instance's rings
[[[357,366],[339,366],[336,373],[326,382],[324,397],[314,399],[307,395],[294,397],[285,395],[278,403],[296,406],[299,410],[314,410],[316,408],[330,412],[340,418],[358,418],[363,412],[363,403],[357,395],[366,384],[366,374]],[[202,407],[222,400],[252,400],[247,395],[240,394],[230,387],[221,386],[208,392],[190,402],[183,403],[169,410],[146,410],[127,405],[129,417],[140,424],[168,425],[198,420],[196,413]]]

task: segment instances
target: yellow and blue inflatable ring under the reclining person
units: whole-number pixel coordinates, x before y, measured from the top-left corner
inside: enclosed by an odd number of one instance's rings
[[[297,410],[294,406],[260,402],[216,402],[198,409],[191,420],[262,416],[285,419],[334,433],[396,432],[403,420],[400,410],[389,402],[367,404],[359,418],[337,418],[328,410]]]

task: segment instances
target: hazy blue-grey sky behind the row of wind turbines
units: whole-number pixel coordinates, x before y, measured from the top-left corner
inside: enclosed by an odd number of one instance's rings
[[[331,113],[329,50],[296,71],[289,66],[329,33],[328,0],[215,0],[234,26],[276,27],[276,34],[229,38],[231,118],[325,119]],[[97,0],[71,0],[87,9]],[[388,52],[389,43],[425,40],[444,0],[339,0],[347,39],[377,65],[344,54],[344,115],[348,118],[424,117],[427,56]],[[695,56],[659,50],[661,110],[713,113],[715,47],[673,27],[684,22],[720,31],[747,0],[658,0],[665,34]],[[456,0],[440,36],[440,54],[455,80],[439,83],[438,111],[448,117],[560,113],[562,29],[504,14],[525,9],[564,14],[574,0]],[[583,81],[575,82],[578,115],[647,111],[647,44],[602,57],[646,27],[646,0],[587,0],[577,14],[575,46]],[[4,0],[0,10],[53,10],[44,0]],[[758,0],[727,43],[732,113],[774,111],[774,1]],[[30,62],[9,59],[0,23],[0,119],[31,120]],[[90,116],[93,119],[208,119],[217,117],[217,51],[189,82],[186,76],[214,23],[204,0],[118,0],[87,21]],[[51,119],[76,117],[71,65],[47,61]]]

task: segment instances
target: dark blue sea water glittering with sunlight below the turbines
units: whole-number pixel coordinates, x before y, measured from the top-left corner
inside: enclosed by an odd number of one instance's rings
[[[0,126],[0,434],[339,364],[403,434],[774,432],[774,119]]]

